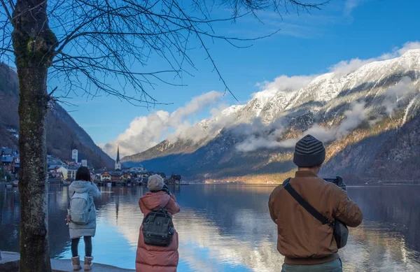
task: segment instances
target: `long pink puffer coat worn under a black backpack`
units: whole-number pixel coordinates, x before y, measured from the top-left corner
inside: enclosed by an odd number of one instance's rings
[[[147,192],[139,200],[141,212],[146,215],[155,208],[166,207],[168,213],[174,215],[179,213],[179,206],[175,196],[165,192]],[[136,272],[176,272],[178,266],[178,233],[175,231],[172,243],[167,247],[146,245],[140,227],[139,243],[137,245]]]

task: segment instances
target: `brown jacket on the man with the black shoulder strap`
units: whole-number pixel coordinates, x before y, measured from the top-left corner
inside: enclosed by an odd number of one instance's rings
[[[357,227],[362,211],[347,193],[311,171],[297,171],[290,185],[311,206],[331,222],[334,218],[348,227]],[[279,185],[269,196],[269,214],[277,224],[277,250],[286,264],[323,264],[339,256],[332,228],[307,212]]]

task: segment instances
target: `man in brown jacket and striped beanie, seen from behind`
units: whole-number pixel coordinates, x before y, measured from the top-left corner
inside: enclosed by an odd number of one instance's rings
[[[325,148],[311,135],[295,146],[298,166],[290,185],[330,222],[335,218],[348,227],[358,227],[362,211],[344,189],[318,178]],[[329,224],[322,224],[279,185],[269,196],[269,214],[277,224],[277,250],[285,257],[282,272],[341,272],[342,262]]]

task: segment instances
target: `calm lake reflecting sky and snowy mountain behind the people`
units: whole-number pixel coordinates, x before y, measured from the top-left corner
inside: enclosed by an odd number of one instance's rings
[[[49,188],[51,257],[71,257],[64,222],[67,187]],[[267,200],[274,186],[186,185],[172,188],[181,206],[178,271],[280,271],[276,226]],[[146,187],[102,187],[97,201],[95,262],[134,269]],[[344,271],[420,271],[420,186],[348,187],[364,222],[339,250]],[[19,251],[17,188],[0,189],[0,250]],[[83,240],[79,250],[83,250]],[[83,252],[83,251],[82,251]],[[83,254],[83,253],[81,253]]]

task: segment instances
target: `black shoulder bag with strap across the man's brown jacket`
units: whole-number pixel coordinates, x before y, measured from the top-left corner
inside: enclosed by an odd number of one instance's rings
[[[295,189],[293,189],[292,185],[289,183],[290,178],[288,178],[283,183],[283,188],[293,196],[293,199],[297,201],[308,213],[310,213],[313,217],[316,218],[322,224],[328,224],[328,226],[332,227],[332,232],[334,234],[335,242],[337,243],[337,248],[344,248],[347,244],[347,239],[349,238],[349,229],[347,226],[340,222],[339,220],[335,219],[335,222],[331,223],[327,217],[323,216],[318,210],[315,210],[306,200],[298,194]]]

